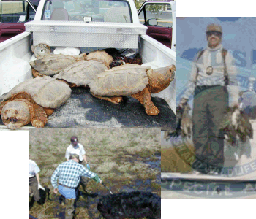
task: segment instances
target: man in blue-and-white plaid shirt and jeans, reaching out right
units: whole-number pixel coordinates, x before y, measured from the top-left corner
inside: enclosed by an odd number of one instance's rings
[[[60,164],[53,172],[51,184],[53,185],[54,193],[61,193],[67,199],[65,219],[72,219],[75,215],[75,202],[78,200],[78,185],[80,177],[89,177],[97,183],[102,183],[102,180],[94,172],[86,169],[85,166],[78,164],[79,155],[70,155],[69,161]],[[57,183],[59,180],[59,185]]]

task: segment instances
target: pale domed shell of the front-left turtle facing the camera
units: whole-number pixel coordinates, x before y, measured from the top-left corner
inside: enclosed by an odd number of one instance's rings
[[[22,92],[29,93],[37,104],[46,108],[60,107],[71,95],[69,85],[46,76],[21,82],[3,97],[3,101],[7,101],[12,96]]]

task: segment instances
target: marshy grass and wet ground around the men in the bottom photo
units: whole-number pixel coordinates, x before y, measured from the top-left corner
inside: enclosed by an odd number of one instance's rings
[[[64,217],[65,208],[58,202],[59,194],[52,192],[50,177],[66,161],[64,156],[72,135],[85,147],[91,171],[99,174],[113,193],[138,190],[160,196],[159,128],[31,128],[29,135],[30,158],[39,166],[40,183],[50,188],[52,199],[42,206],[35,203],[30,209],[34,217]],[[109,192],[94,180],[89,180],[87,189],[98,196],[80,197],[76,218],[101,218],[97,201]]]

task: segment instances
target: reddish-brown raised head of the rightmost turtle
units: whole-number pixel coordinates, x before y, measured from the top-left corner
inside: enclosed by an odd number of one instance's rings
[[[175,76],[175,65],[159,68],[149,69],[148,75],[148,90],[150,93],[159,93],[170,85]]]

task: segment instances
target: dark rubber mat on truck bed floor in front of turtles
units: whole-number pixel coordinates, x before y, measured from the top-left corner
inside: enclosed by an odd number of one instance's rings
[[[137,99],[124,97],[121,104],[97,99],[89,88],[72,88],[67,103],[48,117],[46,128],[69,127],[158,127],[175,128],[175,114],[164,99],[152,97],[160,110],[159,115],[149,116]],[[3,125],[2,121],[0,122]],[[27,126],[31,126],[28,124]]]

